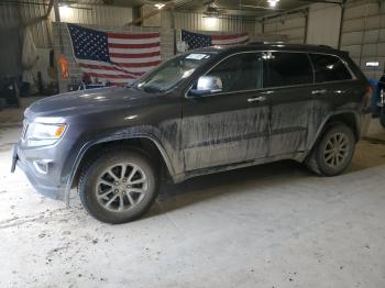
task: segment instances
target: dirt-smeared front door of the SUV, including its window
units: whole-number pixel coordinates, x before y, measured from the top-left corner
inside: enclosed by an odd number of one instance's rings
[[[219,77],[221,91],[187,97],[183,103],[185,170],[231,165],[267,156],[268,95],[261,53],[232,55],[206,76]],[[193,86],[196,89],[197,86]]]

